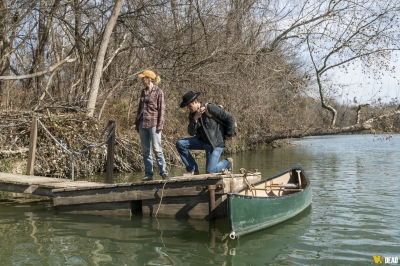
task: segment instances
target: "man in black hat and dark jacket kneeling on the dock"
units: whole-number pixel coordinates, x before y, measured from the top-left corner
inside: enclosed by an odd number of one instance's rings
[[[189,150],[205,150],[206,173],[218,173],[223,169],[233,172],[233,160],[219,161],[225,147],[225,139],[235,135],[235,118],[232,114],[214,104],[203,104],[197,97],[199,92],[189,91],[182,97],[181,108],[187,107],[189,113],[188,133],[190,138],[180,139],[176,148],[186,166],[185,175],[199,173],[198,165]]]

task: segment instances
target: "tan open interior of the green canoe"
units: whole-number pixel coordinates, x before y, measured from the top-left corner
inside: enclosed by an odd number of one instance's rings
[[[293,169],[277,176],[247,185],[235,194],[254,197],[280,197],[303,191],[308,178],[301,169]]]

